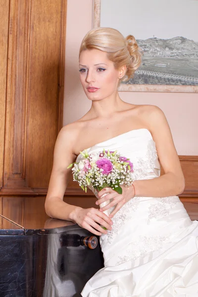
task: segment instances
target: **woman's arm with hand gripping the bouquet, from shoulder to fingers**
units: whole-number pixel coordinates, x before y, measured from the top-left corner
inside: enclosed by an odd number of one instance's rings
[[[156,106],[146,105],[141,113],[145,125],[152,134],[156,144],[157,154],[164,169],[164,175],[148,180],[133,182],[136,196],[140,197],[168,197],[179,195],[184,191],[185,180],[181,169],[180,160],[175,149],[169,125],[164,113]],[[148,125],[149,123],[149,125]],[[134,187],[122,187],[122,194],[117,194],[111,188],[102,189],[96,204],[113,199],[112,202],[100,208],[100,211],[109,209],[117,204],[109,217],[112,217],[127,201],[134,196]],[[104,193],[108,193],[101,198]]]

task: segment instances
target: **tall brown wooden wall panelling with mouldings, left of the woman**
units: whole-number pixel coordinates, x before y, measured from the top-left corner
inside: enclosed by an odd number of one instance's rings
[[[67,1],[1,2],[9,5],[4,7],[0,45],[7,47],[2,57],[7,93],[2,97],[6,111],[3,104],[0,110],[5,122],[0,131],[0,192],[35,195],[34,188],[48,187],[62,126]]]

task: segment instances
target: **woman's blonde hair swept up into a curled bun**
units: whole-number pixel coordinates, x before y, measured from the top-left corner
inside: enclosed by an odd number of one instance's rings
[[[115,69],[127,66],[126,73],[121,81],[129,80],[141,65],[142,50],[133,35],[126,38],[116,29],[99,27],[90,30],[84,37],[79,51],[99,49],[107,52],[107,57],[114,63]]]

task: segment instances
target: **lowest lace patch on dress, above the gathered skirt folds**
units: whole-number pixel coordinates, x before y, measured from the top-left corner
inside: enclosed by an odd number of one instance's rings
[[[169,241],[167,236],[139,236],[138,240],[133,241],[125,254],[118,256],[120,259],[116,265],[126,261],[136,260],[146,257],[150,252],[161,249],[165,243]]]

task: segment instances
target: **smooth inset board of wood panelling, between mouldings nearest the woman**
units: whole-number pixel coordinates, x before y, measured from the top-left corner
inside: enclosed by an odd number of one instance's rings
[[[58,97],[60,4],[60,0],[32,1],[26,163],[27,184],[32,188],[48,187],[51,148],[57,136],[58,102],[54,98]]]

